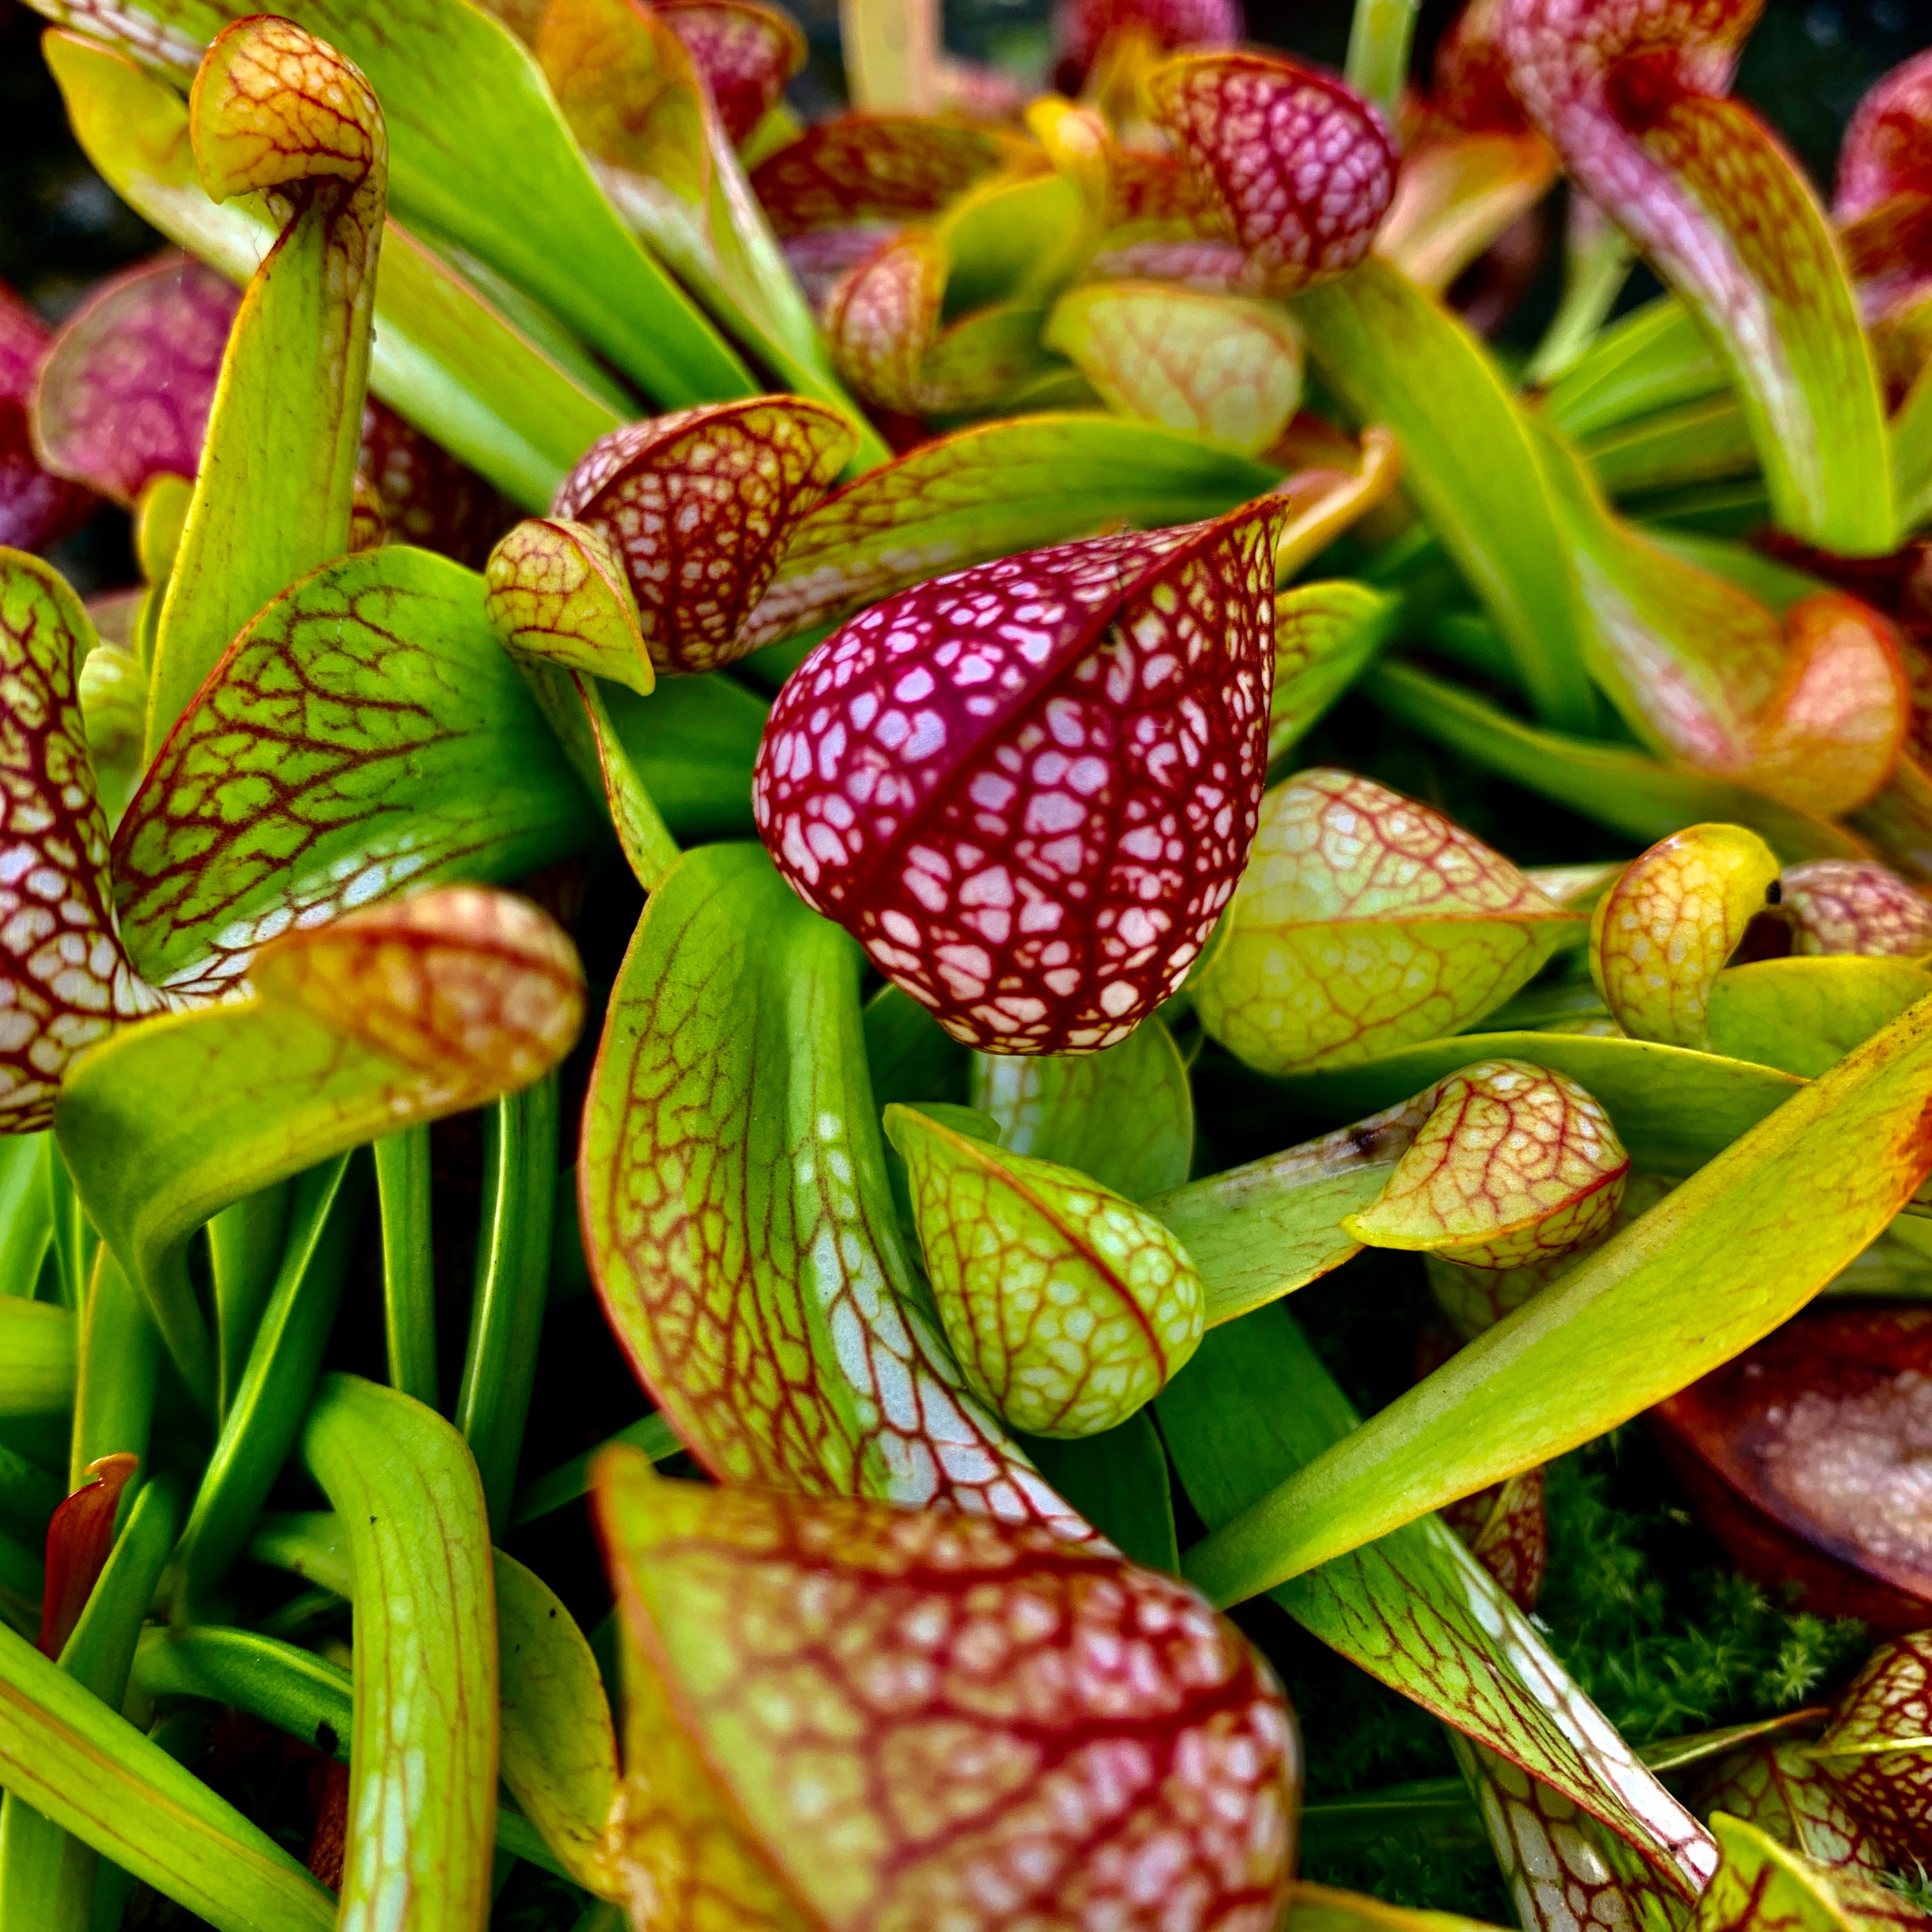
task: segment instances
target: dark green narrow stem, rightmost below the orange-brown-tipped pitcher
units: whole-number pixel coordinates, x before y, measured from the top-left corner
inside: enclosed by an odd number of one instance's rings
[[[477,1459],[493,1534],[502,1534],[524,1447],[551,1281],[556,1076],[504,1095],[489,1109],[485,1122],[483,1225],[456,1426]]]

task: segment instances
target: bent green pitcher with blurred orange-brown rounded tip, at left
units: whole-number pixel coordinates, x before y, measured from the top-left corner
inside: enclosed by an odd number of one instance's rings
[[[527,1086],[568,1051],[583,1014],[562,931],[522,900],[471,889],[290,933],[253,972],[253,999],[102,1041],[56,1107],[93,1225],[203,1399],[214,1364],[185,1269],[195,1229],[400,1124]]]

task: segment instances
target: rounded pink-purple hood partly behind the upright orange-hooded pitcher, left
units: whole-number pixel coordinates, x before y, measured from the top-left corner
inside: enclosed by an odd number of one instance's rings
[[[54,468],[128,506],[155,475],[191,479],[240,305],[187,255],[102,284],[54,336],[35,392]]]

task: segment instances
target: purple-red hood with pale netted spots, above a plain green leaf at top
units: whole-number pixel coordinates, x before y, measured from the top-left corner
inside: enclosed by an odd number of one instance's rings
[[[1148,93],[1269,294],[1331,280],[1368,253],[1395,197],[1395,143],[1339,75],[1279,54],[1186,54]]]

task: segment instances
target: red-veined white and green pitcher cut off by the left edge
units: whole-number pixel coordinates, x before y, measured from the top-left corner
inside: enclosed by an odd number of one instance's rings
[[[0,554],[0,1130],[48,1126],[68,1063],[164,1001],[128,962],[75,688],[87,614]]]

